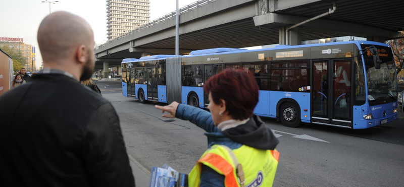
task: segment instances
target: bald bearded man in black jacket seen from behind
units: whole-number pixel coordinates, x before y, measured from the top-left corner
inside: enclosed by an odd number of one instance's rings
[[[67,12],[41,22],[44,69],[0,97],[2,186],[135,186],[115,109],[79,82],[94,69],[93,38]]]

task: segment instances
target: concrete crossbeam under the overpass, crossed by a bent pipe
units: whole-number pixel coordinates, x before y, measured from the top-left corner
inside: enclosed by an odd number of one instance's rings
[[[324,17],[326,18],[326,17]],[[284,27],[291,26],[309,18],[302,18],[281,14],[265,14],[253,17],[256,26],[265,27]],[[385,29],[369,27],[360,24],[346,23],[341,21],[331,21],[325,19],[317,19],[312,22],[299,26],[301,30],[313,31],[320,33],[335,33],[340,35],[351,35],[360,37],[382,36],[386,38],[397,37],[398,32]]]

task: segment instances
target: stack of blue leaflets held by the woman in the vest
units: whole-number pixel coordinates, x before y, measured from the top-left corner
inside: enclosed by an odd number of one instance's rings
[[[167,164],[151,170],[149,187],[188,187],[188,175],[180,173]]]

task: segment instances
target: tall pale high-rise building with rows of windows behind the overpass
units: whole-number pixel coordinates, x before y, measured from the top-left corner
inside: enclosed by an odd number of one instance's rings
[[[149,0],[107,0],[108,40],[148,23],[149,4]]]

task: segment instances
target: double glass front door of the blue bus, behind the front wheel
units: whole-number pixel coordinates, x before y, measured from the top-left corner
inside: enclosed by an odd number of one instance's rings
[[[313,123],[351,127],[351,62],[313,61]]]

